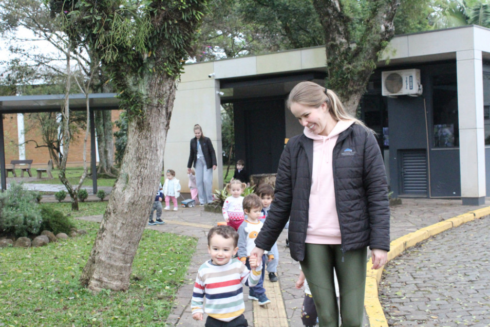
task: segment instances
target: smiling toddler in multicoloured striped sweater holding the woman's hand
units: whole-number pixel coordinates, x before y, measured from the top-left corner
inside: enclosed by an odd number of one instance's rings
[[[208,314],[206,327],[248,326],[243,316],[242,284],[257,285],[262,267],[249,270],[240,260],[232,258],[238,251],[237,245],[238,233],[230,226],[216,226],[208,233],[211,260],[199,267],[191,301],[195,320],[202,320],[204,312]],[[249,260],[252,267],[256,266],[257,257]]]

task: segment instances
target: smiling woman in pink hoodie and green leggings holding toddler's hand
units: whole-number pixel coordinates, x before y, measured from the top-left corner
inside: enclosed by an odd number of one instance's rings
[[[383,158],[372,131],[346,113],[332,90],[301,82],[288,107],[305,130],[281,155],[274,201],[252,255],[270,250],[290,219],[291,256],[306,276],[319,325],[338,326],[335,269],[342,325],[361,327],[367,246],[373,269],[386,263],[389,250]]]

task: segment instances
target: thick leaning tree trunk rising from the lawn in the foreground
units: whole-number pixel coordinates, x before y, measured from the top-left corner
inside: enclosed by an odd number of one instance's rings
[[[119,177],[80,277],[82,285],[95,291],[129,287],[131,265],[160,182],[176,84],[174,79],[158,74],[148,80],[150,103],[144,107],[144,117],[129,122]]]

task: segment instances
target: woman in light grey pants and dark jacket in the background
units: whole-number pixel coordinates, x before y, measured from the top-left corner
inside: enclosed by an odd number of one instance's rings
[[[199,124],[194,125],[194,138],[191,139],[191,153],[187,162],[187,173],[192,165],[196,170],[196,184],[199,192],[199,204],[213,202],[213,170],[217,167],[216,153],[209,137],[202,134]]]

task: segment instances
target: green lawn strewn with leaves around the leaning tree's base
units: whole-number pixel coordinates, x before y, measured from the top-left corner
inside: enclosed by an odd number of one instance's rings
[[[0,326],[165,326],[196,240],[145,230],[127,292],[92,294],[79,283],[98,223],[38,248],[0,249]]]

